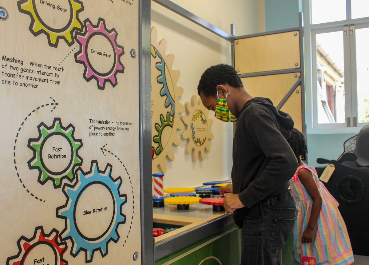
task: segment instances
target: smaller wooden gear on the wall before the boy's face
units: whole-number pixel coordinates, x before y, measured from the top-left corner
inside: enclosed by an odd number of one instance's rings
[[[200,153],[200,159],[205,159],[205,150],[210,152],[209,140],[214,138],[210,131],[213,120],[209,119],[209,110],[204,107],[201,99],[197,99],[195,95],[191,97],[191,103],[184,104],[187,116],[182,116],[186,129],[181,134],[183,139],[188,139],[186,145],[186,153],[192,152],[192,159],[197,160]]]

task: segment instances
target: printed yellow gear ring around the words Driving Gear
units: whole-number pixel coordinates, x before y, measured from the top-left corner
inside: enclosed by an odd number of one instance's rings
[[[53,30],[51,26],[45,25],[44,21],[39,17],[35,10],[35,0],[18,1],[18,9],[21,13],[28,14],[31,17],[30,31],[37,36],[44,33],[49,41],[49,46],[58,47],[59,39],[64,39],[71,46],[74,43],[73,32],[82,29],[82,22],[78,18],[78,14],[83,11],[83,3],[79,0],[69,0],[70,20],[62,30]]]

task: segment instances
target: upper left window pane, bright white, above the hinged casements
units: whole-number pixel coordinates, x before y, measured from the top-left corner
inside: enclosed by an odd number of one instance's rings
[[[346,19],[346,0],[311,0],[311,24]]]

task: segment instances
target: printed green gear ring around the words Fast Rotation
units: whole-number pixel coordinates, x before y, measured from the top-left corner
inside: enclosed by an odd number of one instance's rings
[[[76,178],[75,168],[76,166],[82,165],[82,158],[78,155],[78,150],[82,147],[82,140],[74,138],[75,127],[69,124],[67,127],[63,127],[60,118],[54,118],[53,124],[48,127],[45,123],[38,125],[38,138],[28,140],[28,148],[33,151],[33,157],[28,161],[28,167],[30,169],[38,169],[38,182],[44,185],[48,179],[52,180],[54,188],[60,188],[62,179],[68,179],[72,182]],[[62,173],[50,172],[41,159],[41,146],[47,138],[52,135],[62,135],[69,141],[73,154],[73,157],[68,167],[63,170]]]

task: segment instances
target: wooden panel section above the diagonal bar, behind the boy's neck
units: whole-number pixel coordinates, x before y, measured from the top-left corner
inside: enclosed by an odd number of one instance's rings
[[[277,106],[290,90],[300,73],[241,78],[246,91],[253,97],[267,97]]]

